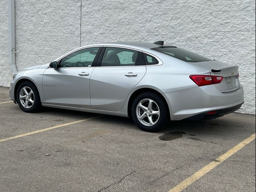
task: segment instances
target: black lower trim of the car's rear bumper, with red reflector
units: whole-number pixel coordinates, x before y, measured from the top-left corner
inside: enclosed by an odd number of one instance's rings
[[[212,115],[208,115],[207,113],[208,112],[204,112],[204,113],[200,113],[200,114],[197,114],[197,115],[194,115],[194,116],[191,116],[189,118],[186,118],[185,120],[204,120],[204,119],[215,119],[215,118],[218,118],[218,117],[222,117],[226,114],[229,114],[229,113],[232,113],[238,109],[240,109],[240,107],[242,106],[243,103],[239,104],[239,105],[236,105],[234,107],[229,107],[229,108],[225,108],[225,109],[220,109],[220,110],[216,110],[216,113],[215,114],[212,114]]]

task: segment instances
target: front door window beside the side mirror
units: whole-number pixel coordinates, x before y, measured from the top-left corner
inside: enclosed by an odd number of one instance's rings
[[[76,51],[60,61],[60,67],[90,67],[92,66],[99,47],[86,48]]]

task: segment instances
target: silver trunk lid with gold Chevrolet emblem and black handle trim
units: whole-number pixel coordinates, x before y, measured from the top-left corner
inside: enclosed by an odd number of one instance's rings
[[[220,61],[188,62],[188,64],[210,71],[212,76],[222,76],[224,79],[214,86],[222,93],[232,92],[239,88],[238,66],[230,66]]]

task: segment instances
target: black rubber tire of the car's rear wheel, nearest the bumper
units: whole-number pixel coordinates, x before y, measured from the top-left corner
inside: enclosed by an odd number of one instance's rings
[[[140,122],[140,120],[138,120],[138,118],[137,118],[137,114],[136,114],[137,113],[137,105],[139,104],[139,102],[143,101],[144,99],[145,100],[146,99],[153,100],[158,105],[158,108],[160,110],[160,116],[158,116],[158,121],[152,126],[146,126],[146,125],[142,124],[142,122]],[[160,131],[169,117],[168,111],[169,111],[168,107],[166,106],[166,103],[164,102],[163,98],[154,92],[143,92],[143,93],[139,94],[134,99],[134,101],[132,103],[132,107],[131,107],[132,120],[134,121],[134,123],[137,124],[137,126],[141,130],[147,131],[147,132]]]

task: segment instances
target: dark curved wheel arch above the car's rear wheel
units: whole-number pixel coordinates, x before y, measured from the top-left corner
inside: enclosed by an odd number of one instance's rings
[[[128,108],[127,108],[128,116],[131,117],[133,100],[136,98],[136,96],[138,96],[139,94],[141,94],[143,92],[154,92],[154,93],[158,94],[158,96],[160,96],[166,104],[167,110],[169,112],[168,117],[170,119],[170,108],[169,108],[168,102],[166,101],[166,98],[159,91],[157,91],[153,88],[140,88],[131,94],[129,101],[128,101]]]

